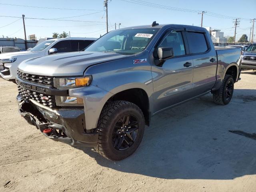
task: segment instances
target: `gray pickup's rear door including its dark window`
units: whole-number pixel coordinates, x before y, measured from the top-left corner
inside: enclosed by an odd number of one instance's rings
[[[203,94],[216,82],[217,57],[210,35],[204,30],[186,29],[190,58],[193,59],[193,96]]]

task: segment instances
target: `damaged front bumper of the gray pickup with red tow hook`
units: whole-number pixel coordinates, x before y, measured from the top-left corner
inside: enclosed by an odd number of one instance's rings
[[[73,146],[96,145],[98,133],[86,130],[84,108],[52,110],[32,99],[25,101],[20,94],[16,99],[20,115],[48,138]]]

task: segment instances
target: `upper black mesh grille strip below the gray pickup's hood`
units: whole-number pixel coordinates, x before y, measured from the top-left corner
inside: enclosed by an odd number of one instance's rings
[[[23,80],[27,80],[27,81],[38,83],[38,84],[53,86],[53,77],[27,74],[19,70],[17,74]]]

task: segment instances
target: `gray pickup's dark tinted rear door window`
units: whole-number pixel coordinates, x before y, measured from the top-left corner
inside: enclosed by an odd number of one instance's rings
[[[208,50],[204,33],[186,32],[190,53],[203,53]]]

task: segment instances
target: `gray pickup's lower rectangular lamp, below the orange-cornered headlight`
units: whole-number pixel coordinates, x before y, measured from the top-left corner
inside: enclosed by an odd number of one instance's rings
[[[55,96],[56,105],[58,106],[84,106],[82,98],[70,96]]]

